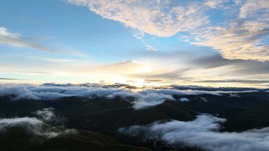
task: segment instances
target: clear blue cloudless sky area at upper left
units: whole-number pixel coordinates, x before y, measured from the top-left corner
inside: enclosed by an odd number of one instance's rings
[[[139,30],[104,19],[87,7],[61,0],[9,0],[1,1],[0,9],[5,12],[0,14],[4,18],[1,26],[8,30],[27,35],[44,45],[74,50],[97,62],[121,62],[134,59],[130,53],[139,56],[147,53],[144,44],[133,36]],[[10,10],[14,11],[10,13]],[[167,38],[146,35],[144,39],[161,51],[184,50],[190,46],[180,42],[178,35]]]

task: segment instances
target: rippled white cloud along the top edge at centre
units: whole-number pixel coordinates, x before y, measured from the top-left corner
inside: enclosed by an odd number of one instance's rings
[[[169,37],[180,31],[188,31],[206,24],[196,3],[170,5],[170,0],[66,0],[87,6],[91,11],[107,19],[145,33]]]

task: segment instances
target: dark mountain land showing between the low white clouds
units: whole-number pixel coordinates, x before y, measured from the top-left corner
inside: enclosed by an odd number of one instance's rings
[[[118,96],[113,99],[106,97],[96,97],[94,99],[86,97],[63,97],[56,100],[24,99],[16,101],[10,101],[8,97],[1,97],[0,118],[31,117],[36,110],[52,107],[55,109],[56,115],[67,119],[65,121],[65,127],[83,130],[80,131],[79,135],[65,135],[46,140],[38,136],[32,137],[17,132],[16,135],[20,138],[17,142],[22,142],[19,143],[20,145],[26,145],[18,148],[26,150],[28,149],[28,145],[30,145],[30,149],[34,146],[36,150],[41,151],[53,151],[52,149],[79,151],[83,150],[83,148],[92,149],[91,151],[105,151],[110,149],[133,151],[133,149],[141,149],[123,146],[115,141],[111,142],[112,139],[109,139],[109,137],[126,145],[147,147],[159,151],[171,150],[174,148],[160,140],[139,140],[137,137],[119,134],[118,129],[133,125],[147,125],[155,121],[165,122],[172,119],[191,121],[199,113],[209,113],[214,116],[226,118],[227,122],[222,124],[224,126],[222,131],[234,132],[269,127],[268,92],[238,93],[233,95],[175,95],[173,97],[176,99],[175,101],[165,100],[162,104],[143,109],[134,109],[132,107],[133,97],[127,98],[128,100]],[[189,101],[180,101],[182,97],[188,98]],[[12,140],[13,135],[15,134],[8,135],[11,136],[9,141]],[[8,138],[7,135],[1,136]],[[16,142],[16,140],[13,141]],[[35,143],[31,144],[27,141],[38,141],[39,143],[42,142],[42,144],[38,144],[37,147],[39,148],[37,148]],[[8,142],[5,144],[10,145]],[[16,147],[15,145],[11,146]],[[77,146],[82,146],[83,148],[76,148]],[[5,147],[7,148],[7,146]],[[192,149],[187,148],[178,150],[192,151]]]

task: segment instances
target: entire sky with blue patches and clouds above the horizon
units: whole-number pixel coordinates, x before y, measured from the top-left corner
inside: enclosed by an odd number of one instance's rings
[[[0,83],[269,87],[269,0],[0,0]]]

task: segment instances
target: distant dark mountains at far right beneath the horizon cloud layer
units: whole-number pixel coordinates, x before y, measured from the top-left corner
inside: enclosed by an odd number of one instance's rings
[[[234,94],[236,95],[236,94]],[[268,92],[251,92],[238,93],[238,97],[230,94],[222,95],[188,95],[184,96],[189,99],[188,102],[182,102],[186,108],[200,112],[219,115],[221,117],[228,117],[245,111],[249,107],[260,106],[267,103],[269,100]],[[182,96],[174,96],[179,99]]]

